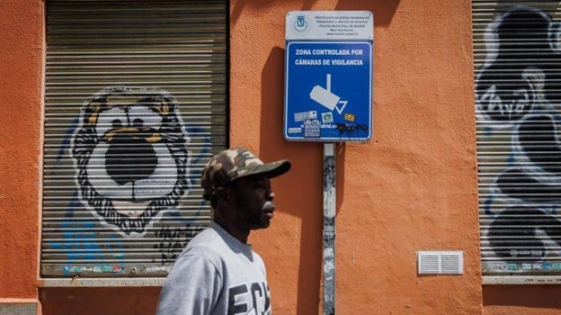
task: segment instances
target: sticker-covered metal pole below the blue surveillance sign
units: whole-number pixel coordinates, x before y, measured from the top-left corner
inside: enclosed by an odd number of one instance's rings
[[[335,155],[324,143],[324,315],[335,314]]]

